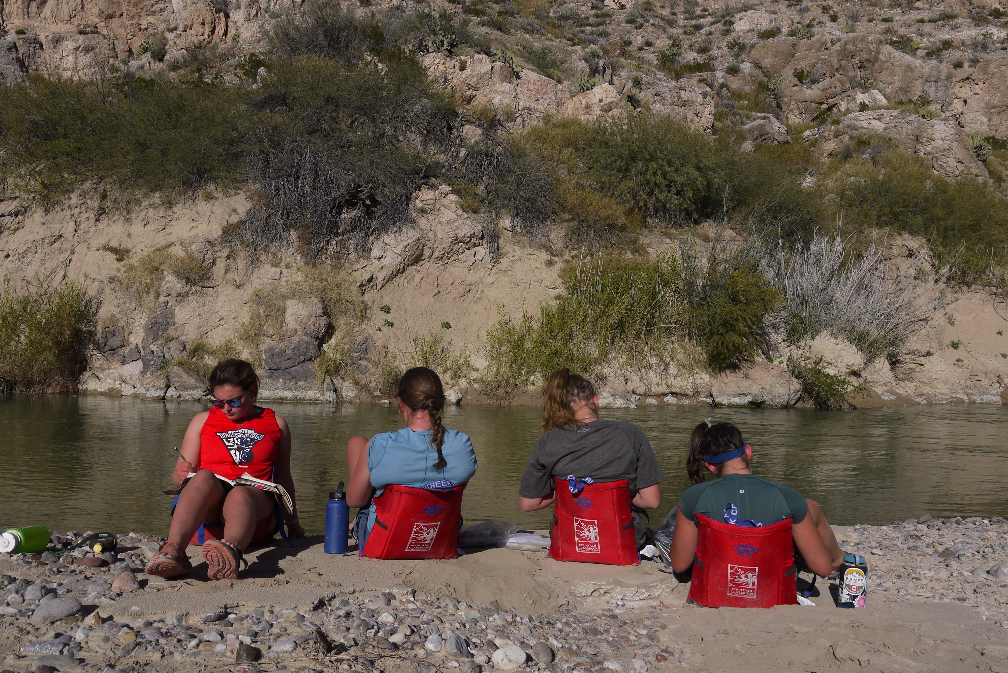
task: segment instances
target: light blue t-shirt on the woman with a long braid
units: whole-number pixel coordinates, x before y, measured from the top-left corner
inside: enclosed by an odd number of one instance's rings
[[[448,464],[437,472],[433,468],[433,464],[437,462],[437,450],[430,443],[431,434],[431,430],[410,430],[404,427],[371,437],[368,443],[368,469],[371,470],[371,486],[377,489],[376,497],[390,485],[413,489],[446,489],[473,478],[477,467],[476,451],[473,450],[469,435],[459,430],[445,431],[442,453]],[[369,533],[375,521],[374,507],[370,509]]]

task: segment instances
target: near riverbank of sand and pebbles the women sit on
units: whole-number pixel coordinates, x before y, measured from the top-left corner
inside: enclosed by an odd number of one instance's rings
[[[836,531],[868,557],[865,609],[836,608],[822,579],[815,607],[710,610],[687,605],[688,585],[654,562],[558,563],[511,549],[377,561],[327,555],[319,538],[251,551],[238,580],[210,582],[203,564],[163,580],[140,571],[157,540],[127,537],[137,544],[121,545],[111,567],[0,560],[2,668],[1008,672],[1004,520]],[[191,553],[201,560],[198,547]],[[133,590],[122,584],[127,567]],[[30,616],[57,599],[82,608]],[[524,661],[499,666],[508,646]]]

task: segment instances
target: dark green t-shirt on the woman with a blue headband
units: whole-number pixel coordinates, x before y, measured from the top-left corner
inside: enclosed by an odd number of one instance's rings
[[[691,486],[679,499],[679,512],[694,522],[698,514],[723,522],[728,503],[739,508],[739,521],[749,519],[764,526],[788,518],[801,523],[808,514],[808,503],[800,493],[755,475],[725,475]]]

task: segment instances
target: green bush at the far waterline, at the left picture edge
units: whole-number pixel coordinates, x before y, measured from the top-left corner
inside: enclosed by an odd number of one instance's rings
[[[0,289],[0,390],[75,391],[97,335],[98,298],[69,281]]]

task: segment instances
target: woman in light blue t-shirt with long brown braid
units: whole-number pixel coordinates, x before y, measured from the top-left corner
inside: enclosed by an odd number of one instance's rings
[[[364,538],[375,520],[371,498],[380,496],[385,487],[447,490],[476,474],[476,452],[469,435],[447,430],[442,424],[445,389],[432,370],[414,367],[403,374],[396,399],[406,427],[370,440],[357,435],[347,442],[347,504],[368,508],[367,519],[361,522],[366,527]]]

